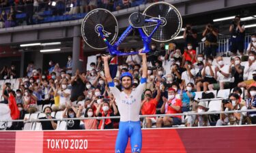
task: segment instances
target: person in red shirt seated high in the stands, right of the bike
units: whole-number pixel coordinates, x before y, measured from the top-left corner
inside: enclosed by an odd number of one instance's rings
[[[184,54],[182,58],[182,65],[184,65],[185,61],[190,61],[192,64],[196,63],[197,52],[193,50],[192,44],[188,44],[187,48],[184,48]]]

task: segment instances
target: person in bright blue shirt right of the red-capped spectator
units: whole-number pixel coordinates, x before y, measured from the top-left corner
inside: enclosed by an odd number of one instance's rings
[[[190,111],[190,101],[194,100],[195,92],[193,92],[194,84],[188,83],[186,90],[183,91],[183,86],[180,85],[180,98],[182,99],[182,112]]]

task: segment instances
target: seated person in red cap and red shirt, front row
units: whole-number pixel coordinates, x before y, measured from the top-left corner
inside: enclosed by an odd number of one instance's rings
[[[178,114],[182,112],[182,101],[175,97],[175,89],[169,88],[168,89],[168,99],[162,97],[164,103],[160,109],[161,113],[165,114]],[[160,117],[156,120],[156,127],[160,128],[162,125],[164,126],[173,126],[181,123],[182,116],[165,116]]]

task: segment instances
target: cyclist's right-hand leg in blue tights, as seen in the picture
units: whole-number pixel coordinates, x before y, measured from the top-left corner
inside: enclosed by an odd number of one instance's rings
[[[140,153],[142,147],[142,133],[140,122],[130,122],[130,148],[132,153]]]

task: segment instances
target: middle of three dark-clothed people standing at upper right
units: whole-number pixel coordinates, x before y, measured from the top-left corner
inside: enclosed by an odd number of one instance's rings
[[[218,48],[217,36],[218,29],[216,29],[212,24],[207,24],[203,31],[203,37],[205,37],[205,48],[203,52],[206,57],[216,56],[216,50]]]

